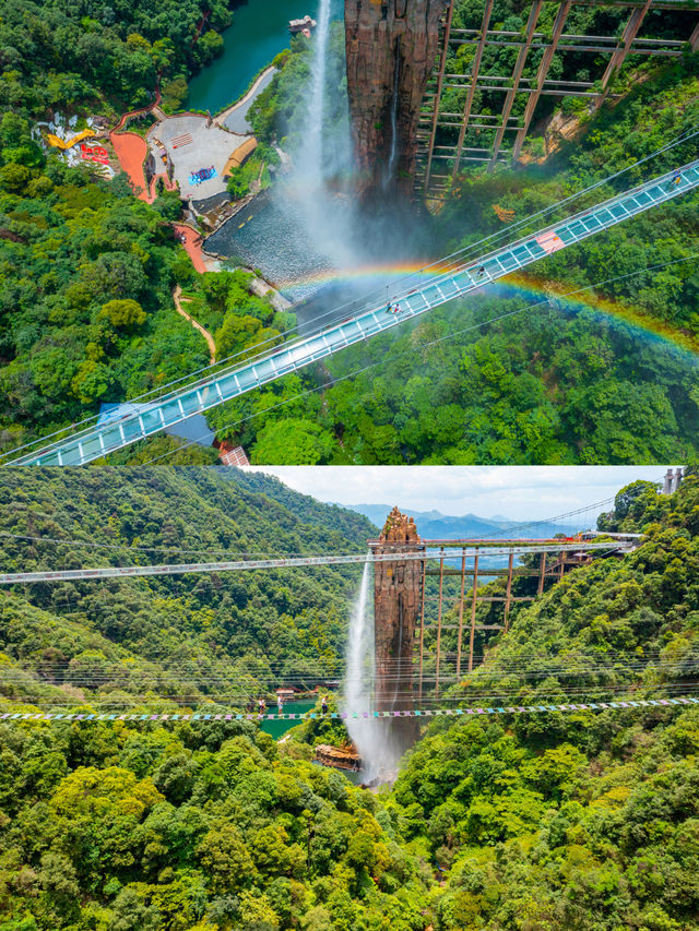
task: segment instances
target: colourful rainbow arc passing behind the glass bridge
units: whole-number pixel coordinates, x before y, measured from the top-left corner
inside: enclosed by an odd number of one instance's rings
[[[293,287],[306,288],[330,284],[364,282],[367,285],[367,290],[377,289],[378,291],[379,288],[386,287],[387,283],[390,287],[391,279],[395,279],[396,284],[398,279],[407,276],[428,279],[436,274],[450,272],[453,267],[455,266],[435,264],[429,268],[425,268],[424,265],[405,263],[402,265],[360,266],[344,271],[328,270],[315,273],[313,275],[279,282],[277,287],[280,290],[284,290],[285,288]],[[678,326],[673,326],[667,321],[650,317],[638,308],[601,297],[593,289],[571,295],[568,293],[576,290],[574,288],[566,288],[565,285],[558,283],[524,275],[508,275],[505,278],[500,278],[496,283],[496,288],[498,288],[502,296],[524,296],[528,299],[538,298],[560,301],[570,311],[587,308],[607,321],[617,324],[623,323],[636,331],[640,331],[647,338],[662,341],[666,346],[679,350],[683,355],[689,354],[695,359],[699,358],[698,336]]]

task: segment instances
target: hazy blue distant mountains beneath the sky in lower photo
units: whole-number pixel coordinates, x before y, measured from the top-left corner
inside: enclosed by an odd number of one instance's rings
[[[388,513],[389,504],[345,504],[348,511],[364,514],[377,527],[382,527]],[[536,524],[529,525],[525,521],[508,521],[505,517],[478,517],[477,514],[463,514],[454,517],[442,514],[439,511],[410,511],[415,518],[417,533],[428,540],[467,540],[487,539],[490,536],[507,537],[508,530],[512,536],[531,537],[532,539],[548,539],[556,534],[569,536],[580,527],[571,527],[570,524]]]

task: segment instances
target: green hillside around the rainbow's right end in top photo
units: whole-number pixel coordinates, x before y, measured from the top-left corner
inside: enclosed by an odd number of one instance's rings
[[[473,26],[479,28],[483,4],[461,5],[474,16],[479,11]],[[496,3],[494,21],[511,16],[517,31],[524,20],[513,5],[522,4]],[[545,4],[546,15],[555,9]],[[623,15],[612,8],[576,12]],[[671,21],[673,13],[663,12]],[[590,23],[579,25],[584,32]],[[593,116],[585,110],[579,138],[545,164],[494,172],[464,165],[439,215],[420,217],[434,247],[429,258],[473,246],[474,259],[500,240],[476,243],[506,229],[494,207],[520,223],[696,131],[699,53],[640,69],[633,62],[617,88],[623,98]],[[298,82],[298,70],[285,74],[256,102],[258,109],[266,98],[273,106],[276,93],[284,112],[284,82]],[[462,108],[453,105],[454,112]],[[583,196],[574,211],[696,157],[695,138]],[[325,363],[332,380],[324,370],[308,371],[305,384],[322,390],[323,405],[310,408],[313,419],[335,437],[318,461],[623,464],[696,456],[698,204],[697,192],[678,198],[537,262],[517,287],[490,286],[345,349]],[[569,205],[540,217],[517,236],[570,212]],[[588,290],[558,297],[580,288]],[[280,382],[247,394],[213,410],[210,421],[253,457],[259,447],[265,462],[287,462],[287,445],[280,442],[275,451],[269,439],[282,438],[280,425],[301,416],[309,402],[300,398],[293,413],[288,405],[275,409],[273,398],[286,393]]]

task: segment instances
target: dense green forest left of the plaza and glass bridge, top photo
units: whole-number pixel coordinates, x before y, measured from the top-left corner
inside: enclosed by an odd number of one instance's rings
[[[123,172],[105,180],[98,166],[69,167],[39,144],[54,119],[75,130],[87,118],[114,127],[152,103],[156,86],[162,106],[176,108],[230,22],[227,3],[203,0],[0,0],[3,447],[206,366],[206,343],[176,311],[176,285],[222,357],[288,325],[288,315],[249,293],[249,276],[194,273],[170,225],[181,215],[177,192],[144,203]],[[106,136],[100,143],[109,150]],[[158,438],[145,458],[179,446]],[[179,454],[215,457],[197,445]]]

